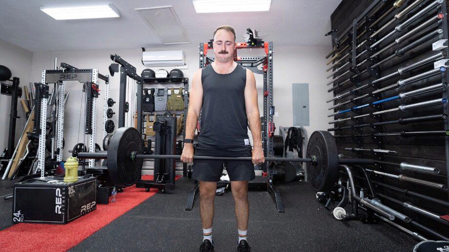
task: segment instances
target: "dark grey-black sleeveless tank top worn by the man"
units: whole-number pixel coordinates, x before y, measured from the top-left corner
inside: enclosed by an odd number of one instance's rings
[[[204,155],[240,156],[251,150],[245,109],[246,69],[219,74],[211,65],[201,74],[203,107],[197,150]]]

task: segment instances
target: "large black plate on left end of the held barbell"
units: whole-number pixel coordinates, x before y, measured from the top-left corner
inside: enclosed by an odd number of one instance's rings
[[[143,160],[132,161],[131,152],[133,151],[137,154],[143,153],[139,131],[133,127],[117,129],[107,151],[109,177],[116,186],[131,186],[139,179]]]

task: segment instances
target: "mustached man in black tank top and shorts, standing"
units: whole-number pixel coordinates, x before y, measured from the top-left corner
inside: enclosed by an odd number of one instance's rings
[[[201,134],[195,155],[252,157],[249,161],[195,160],[192,179],[200,183],[200,216],[203,224],[201,251],[213,252],[212,222],[217,181],[226,167],[229,175],[238,229],[237,251],[250,251],[246,241],[249,218],[248,180],[254,164],[265,162],[254,74],[234,62],[235,31],[220,26],[214,32],[215,61],[192,78],[185,142],[181,160],[193,161],[193,136],[201,111]],[[254,147],[247,134],[253,137]]]

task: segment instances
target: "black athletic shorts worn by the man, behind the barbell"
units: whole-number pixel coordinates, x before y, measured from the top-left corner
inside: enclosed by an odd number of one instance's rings
[[[240,157],[251,157],[251,151],[239,153]],[[202,150],[195,150],[195,156],[211,156],[210,153]],[[216,157],[226,157],[228,155],[220,155],[220,152],[214,152]],[[222,177],[223,164],[230,181],[248,181],[254,180],[254,164],[251,161],[241,160],[194,160],[192,179],[198,181],[218,182]]]

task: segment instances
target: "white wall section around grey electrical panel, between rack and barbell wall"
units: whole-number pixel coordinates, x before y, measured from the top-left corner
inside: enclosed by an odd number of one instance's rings
[[[326,100],[332,97],[326,83],[326,46],[275,47],[273,54],[274,105],[279,117],[276,126],[293,126],[292,83],[309,84],[310,126],[308,135],[315,130],[326,130],[329,114]],[[276,134],[278,131],[276,130]]]

